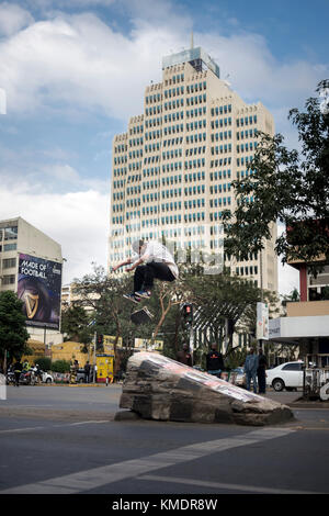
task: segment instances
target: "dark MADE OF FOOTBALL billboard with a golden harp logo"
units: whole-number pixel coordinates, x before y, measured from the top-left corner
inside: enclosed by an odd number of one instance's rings
[[[60,295],[61,263],[20,254],[18,296],[26,325],[59,329]]]

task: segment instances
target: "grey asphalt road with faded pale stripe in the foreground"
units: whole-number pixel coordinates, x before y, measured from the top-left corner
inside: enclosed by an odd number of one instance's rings
[[[9,386],[0,494],[329,493],[329,410],[272,427],[116,422],[121,389]]]

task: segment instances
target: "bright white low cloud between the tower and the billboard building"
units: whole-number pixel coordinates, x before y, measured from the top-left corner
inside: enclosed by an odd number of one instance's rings
[[[13,209],[13,206],[15,206]],[[91,262],[106,265],[109,195],[94,190],[34,193],[27,184],[1,188],[0,220],[22,216],[61,245],[64,283],[91,272]]]

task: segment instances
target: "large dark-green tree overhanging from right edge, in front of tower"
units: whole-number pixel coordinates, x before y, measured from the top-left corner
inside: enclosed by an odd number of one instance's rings
[[[317,91],[325,87],[329,81],[321,81]],[[223,214],[227,253],[243,258],[263,249],[272,224],[280,222],[287,228],[275,242],[283,262],[313,261],[320,255],[329,260],[329,113],[318,98],[308,99],[305,108],[288,114],[302,150],[288,150],[281,134],[260,133],[250,173],[232,181],[238,206]]]

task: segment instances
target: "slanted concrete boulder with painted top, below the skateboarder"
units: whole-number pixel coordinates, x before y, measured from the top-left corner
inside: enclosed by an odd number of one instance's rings
[[[129,358],[120,407],[146,419],[173,422],[263,426],[293,418],[286,405],[156,352]]]

